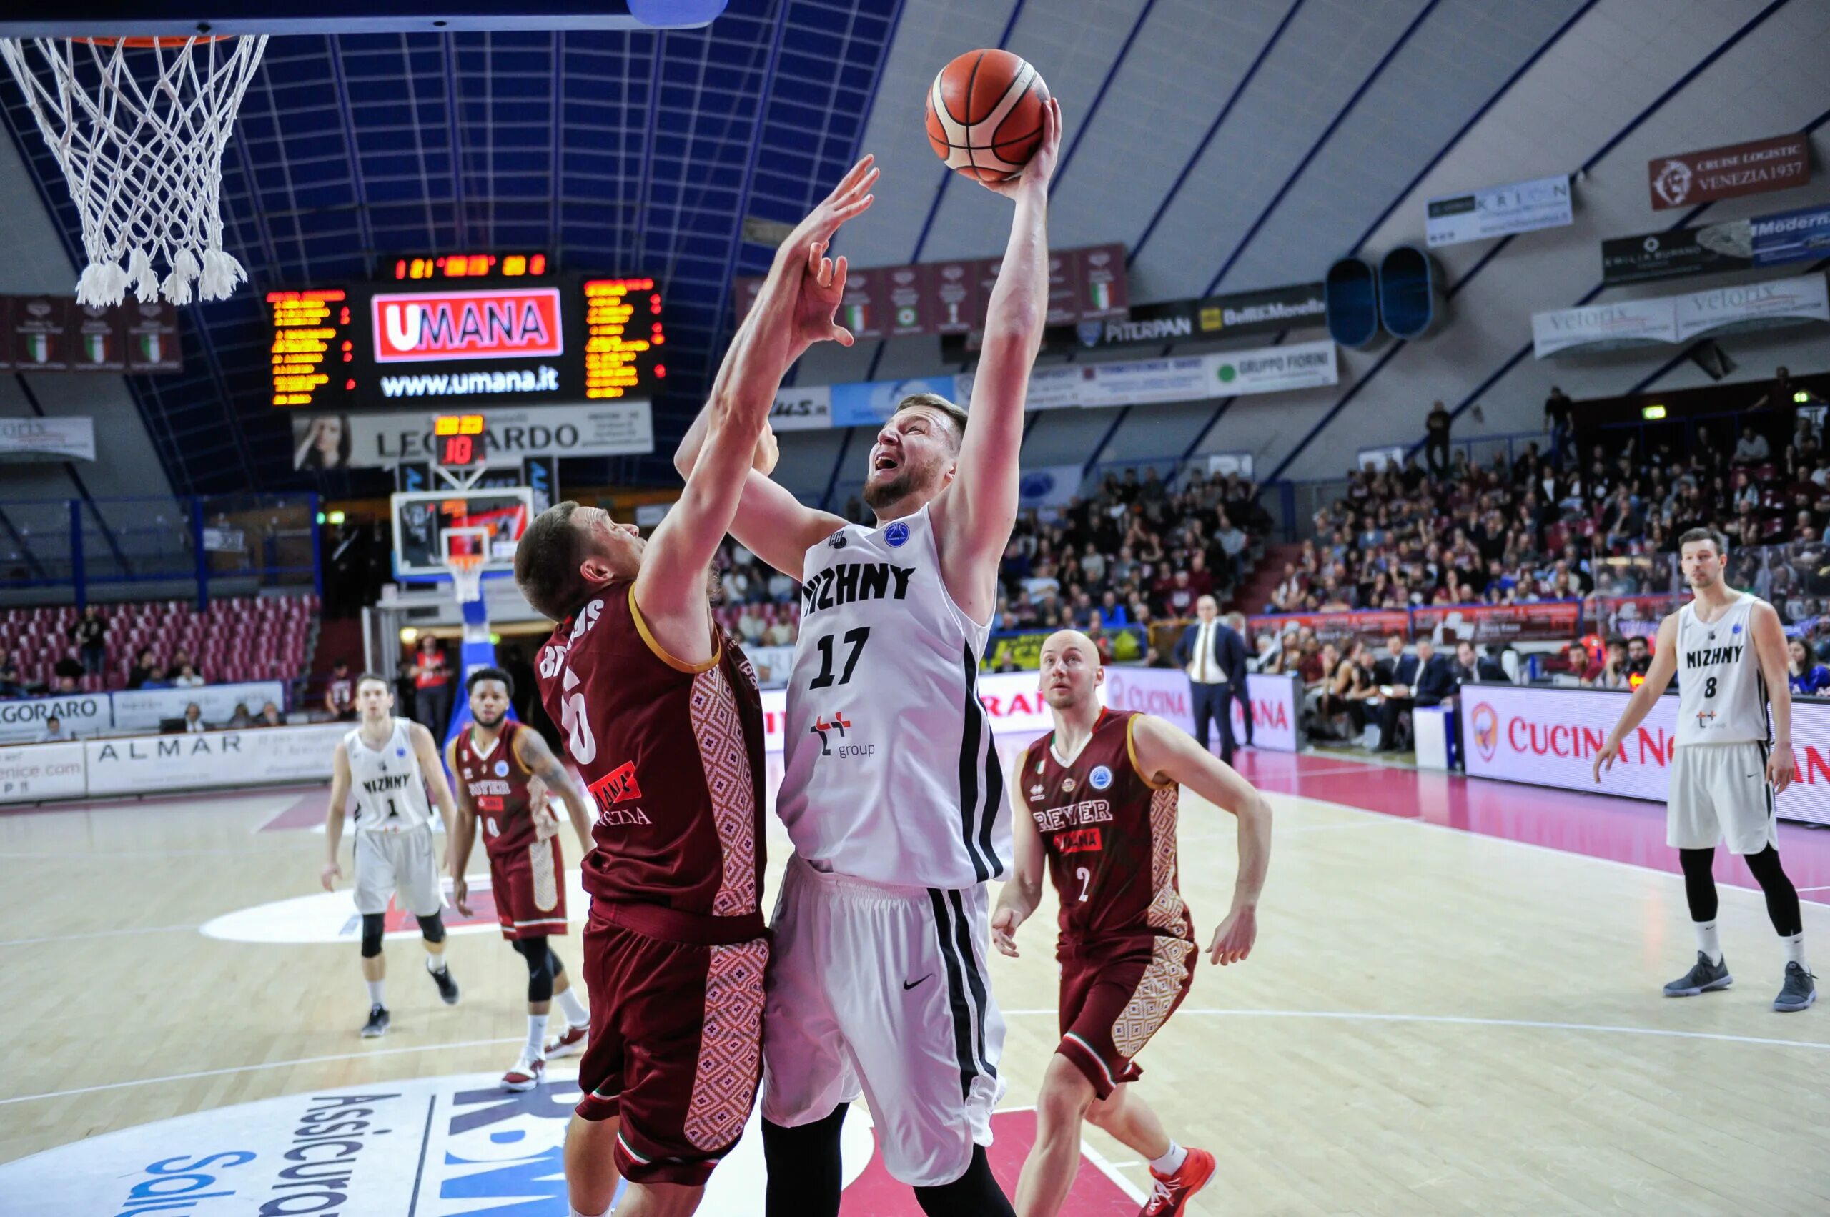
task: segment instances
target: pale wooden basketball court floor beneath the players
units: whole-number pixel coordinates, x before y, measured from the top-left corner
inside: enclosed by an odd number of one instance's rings
[[[1016,741],[1003,750],[1012,756]],[[1830,1212],[1830,1010],[1770,1010],[1779,948],[1759,893],[1728,882],[1724,946],[1737,985],[1660,997],[1695,952],[1682,880],[1654,869],[1669,866],[1654,833],[1660,809],[1323,756],[1248,752],[1241,767],[1277,811],[1257,952],[1226,970],[1202,964],[1186,1007],[1140,1058],[1140,1089],[1171,1133],[1221,1160],[1193,1212]],[[307,1111],[333,1087],[461,1074],[483,1078],[452,1111],[483,1102],[487,1076],[512,1061],[525,1027],[525,968],[492,928],[450,939],[458,1008],[421,975],[415,939],[390,939],[393,1029],[381,1041],[357,1038],[353,939],[201,932],[317,891],[322,838],[311,824],[322,800],[324,789],[285,789],[0,816],[0,1213],[102,1212],[44,1191],[59,1177],[57,1155],[18,1160],[156,1122],[185,1135],[165,1149],[148,1135],[146,1164],[132,1169],[194,1157],[121,1175],[121,1208],[106,1212],[205,1197],[205,1184],[183,1182],[194,1179],[231,1191],[181,1212],[317,1212],[304,1208],[309,1195],[293,1197],[300,1208],[262,1210],[274,1195],[262,1190],[271,1168],[249,1190],[236,1186],[231,1158],[205,1158],[242,1149],[238,1133],[253,1127],[225,1109],[298,1096]],[[1230,893],[1233,827],[1184,800],[1182,889],[1206,942]],[[1568,840],[1521,840],[1545,836],[1530,827],[1539,814],[1574,825]],[[787,856],[774,827],[770,884]],[[1781,838],[1801,889],[1812,888],[1804,922],[1819,968],[1830,959],[1819,902],[1826,838],[1790,825]],[[565,844],[575,862],[569,829]],[[1623,851],[1643,851],[1645,866],[1598,856]],[[1718,873],[1731,878],[1726,862]],[[576,921],[582,904],[571,911]],[[1006,1179],[1025,1144],[1019,1109],[1034,1102],[1056,1043],[1052,906],[1019,944],[1017,961],[992,957],[1010,1021],[1014,1115],[999,1127],[1016,1142],[997,1157]],[[576,935],[556,950],[576,964]],[[556,1065],[554,1085],[567,1065]],[[209,1124],[210,1113],[221,1120]],[[401,1153],[368,1153],[410,1168],[404,1142],[417,1127],[388,1131]],[[104,1173],[113,1144],[64,1153],[93,1151]],[[1093,1129],[1087,1149],[1072,1212],[1136,1212],[1144,1166]],[[123,1153],[135,1151],[137,1142]],[[421,1157],[414,1213],[564,1213],[551,1169],[527,1168],[500,1202],[485,1202],[459,1171],[436,1179],[445,1168],[432,1158],[463,1155],[426,1155],[417,1142],[412,1155]],[[847,1190],[845,1212],[915,1213],[895,1188],[866,1191],[875,1166]],[[719,1212],[759,1212],[759,1193],[747,1197],[754,1208],[719,1201]],[[337,1212],[401,1208],[364,1208],[351,1184]]]

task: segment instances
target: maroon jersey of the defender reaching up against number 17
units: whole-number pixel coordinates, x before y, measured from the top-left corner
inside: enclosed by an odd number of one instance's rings
[[[761,930],[763,705],[756,670],[668,655],[617,580],[540,650],[540,695],[595,803],[584,888],[598,900]]]

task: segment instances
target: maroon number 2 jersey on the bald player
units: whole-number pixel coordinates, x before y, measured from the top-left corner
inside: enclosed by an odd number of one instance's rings
[[[1074,941],[1162,933],[1193,937],[1177,884],[1180,787],[1136,769],[1131,710],[1102,710],[1071,763],[1049,732],[1023,754],[1017,794],[1041,831],[1061,897],[1061,933]]]

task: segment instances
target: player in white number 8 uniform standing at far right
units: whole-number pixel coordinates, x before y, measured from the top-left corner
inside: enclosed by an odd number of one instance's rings
[[[1786,631],[1771,604],[1722,582],[1728,542],[1720,533],[1691,529],[1678,545],[1684,578],[1696,598],[1658,622],[1652,668],[1596,754],[1596,781],[1603,769],[1612,769],[1627,736],[1676,675],[1678,738],[1665,840],[1684,866],[1696,966],[1665,985],[1665,996],[1695,997],[1735,983],[1717,933],[1715,847],[1726,836],[1729,853],[1742,856],[1766,893],[1766,913],[1786,950],[1773,1008],[1804,1010],[1817,999],[1817,985],[1804,963],[1799,893],[1779,864],[1773,813],[1775,796],[1797,776]]]

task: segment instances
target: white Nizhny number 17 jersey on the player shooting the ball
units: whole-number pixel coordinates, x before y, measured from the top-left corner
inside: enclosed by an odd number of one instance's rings
[[[1010,803],[979,705],[979,626],[941,582],[933,520],[847,523],[807,551],[776,811],[814,869],[974,888],[1005,873]]]

